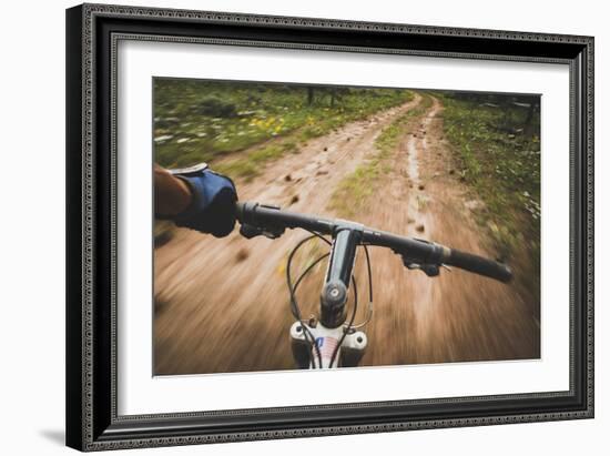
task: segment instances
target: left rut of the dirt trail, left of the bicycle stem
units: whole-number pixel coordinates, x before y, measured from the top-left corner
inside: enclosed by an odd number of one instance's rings
[[[309,141],[298,154],[237,182],[240,199],[321,213],[335,185],[372,153],[385,126],[408,103]],[[154,354],[157,374],[293,368],[285,259],[303,232],[279,240],[244,240],[237,230],[215,240],[175,230],[155,249]],[[313,294],[317,300],[317,292]],[[316,305],[314,303],[314,305]]]

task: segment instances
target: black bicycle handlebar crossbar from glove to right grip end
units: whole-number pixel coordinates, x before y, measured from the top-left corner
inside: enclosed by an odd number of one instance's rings
[[[260,230],[255,234],[265,234],[270,237],[279,236],[286,229],[297,227],[328,235],[335,235],[339,230],[358,231],[362,234],[360,244],[390,249],[403,256],[405,264],[423,266],[446,264],[500,282],[509,282],[512,278],[512,271],[504,263],[449,249],[434,242],[399,236],[345,220],[299,214],[281,210],[277,206],[253,202],[238,202],[236,204],[236,217],[242,224],[242,229],[250,226]]]

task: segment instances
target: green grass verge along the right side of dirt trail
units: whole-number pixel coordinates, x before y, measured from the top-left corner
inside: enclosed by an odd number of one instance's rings
[[[518,245],[525,245],[531,264],[539,265],[539,118],[525,133],[527,110],[522,108],[441,99],[445,134],[458,171],[485,203],[477,215],[489,229],[499,256],[510,259]]]

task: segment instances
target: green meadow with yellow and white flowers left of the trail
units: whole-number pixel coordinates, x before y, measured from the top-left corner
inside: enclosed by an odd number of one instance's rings
[[[347,122],[413,98],[407,90],[154,80],[155,160],[162,166],[218,164],[233,178]],[[311,101],[311,102],[309,102]]]

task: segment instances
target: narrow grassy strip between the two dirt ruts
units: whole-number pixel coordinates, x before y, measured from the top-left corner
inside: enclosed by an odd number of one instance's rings
[[[431,105],[428,95],[419,104],[386,126],[375,140],[375,153],[365,163],[344,178],[335,188],[328,207],[339,216],[354,217],[377,191],[380,178],[392,171],[387,163],[400,140],[410,131],[411,121],[423,115]]]

